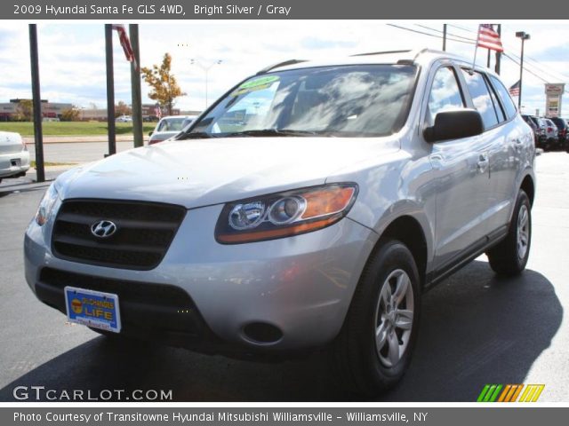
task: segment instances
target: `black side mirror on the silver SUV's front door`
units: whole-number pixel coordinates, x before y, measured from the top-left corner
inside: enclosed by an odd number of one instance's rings
[[[427,142],[469,138],[484,131],[482,117],[476,109],[462,108],[441,111],[435,117],[435,124],[423,130]]]

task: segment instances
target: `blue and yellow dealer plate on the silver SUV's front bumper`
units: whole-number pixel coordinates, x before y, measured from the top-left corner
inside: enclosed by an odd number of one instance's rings
[[[66,287],[64,292],[69,321],[114,333],[121,331],[117,295],[75,287]]]

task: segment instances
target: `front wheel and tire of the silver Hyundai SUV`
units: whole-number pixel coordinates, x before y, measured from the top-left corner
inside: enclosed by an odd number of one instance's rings
[[[397,292],[399,289],[405,291]],[[400,297],[395,304],[397,293]],[[401,380],[417,339],[420,302],[419,272],[413,255],[401,241],[382,242],[365,266],[348,316],[331,348],[333,369],[342,386],[372,397]],[[404,327],[397,327],[397,322]],[[380,332],[383,338],[378,344],[376,334]]]

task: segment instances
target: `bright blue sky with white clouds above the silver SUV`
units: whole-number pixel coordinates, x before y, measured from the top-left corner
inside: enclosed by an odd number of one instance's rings
[[[117,22],[121,23],[121,22]],[[379,20],[192,20],[141,22],[140,62],[159,64],[172,54],[172,72],[185,96],[177,99],[181,110],[202,110],[234,84],[272,63],[286,59],[323,59],[365,51],[442,48],[443,21]],[[447,51],[472,59],[478,22],[446,22]],[[545,109],[544,83],[567,83],[562,115],[569,117],[569,21],[502,21],[505,52],[519,59],[521,42],[516,31],[525,31],[522,112],[541,114]],[[403,27],[407,29],[397,28]],[[410,31],[409,29],[413,30]],[[428,33],[430,36],[426,34]],[[131,103],[130,64],[114,37],[115,98]],[[102,23],[38,24],[42,99],[76,106],[104,108],[106,100],[105,43]],[[486,50],[479,49],[477,64],[485,65]],[[194,59],[194,65],[192,60]],[[221,61],[220,64],[217,64]],[[493,67],[492,62],[492,67]],[[2,21],[0,25],[0,102],[31,98],[28,25]],[[533,74],[532,74],[533,73]],[[509,87],[519,79],[519,65],[502,58],[501,77]],[[148,99],[142,83],[142,100]],[[517,99],[514,99],[517,101]]]

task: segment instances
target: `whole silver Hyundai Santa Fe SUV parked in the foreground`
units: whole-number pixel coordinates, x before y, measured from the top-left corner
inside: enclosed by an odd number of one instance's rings
[[[409,364],[422,291],[484,252],[525,268],[532,130],[460,58],[288,61],[174,139],[53,183],[25,241],[41,301],[201,351],[326,347],[373,393]]]

